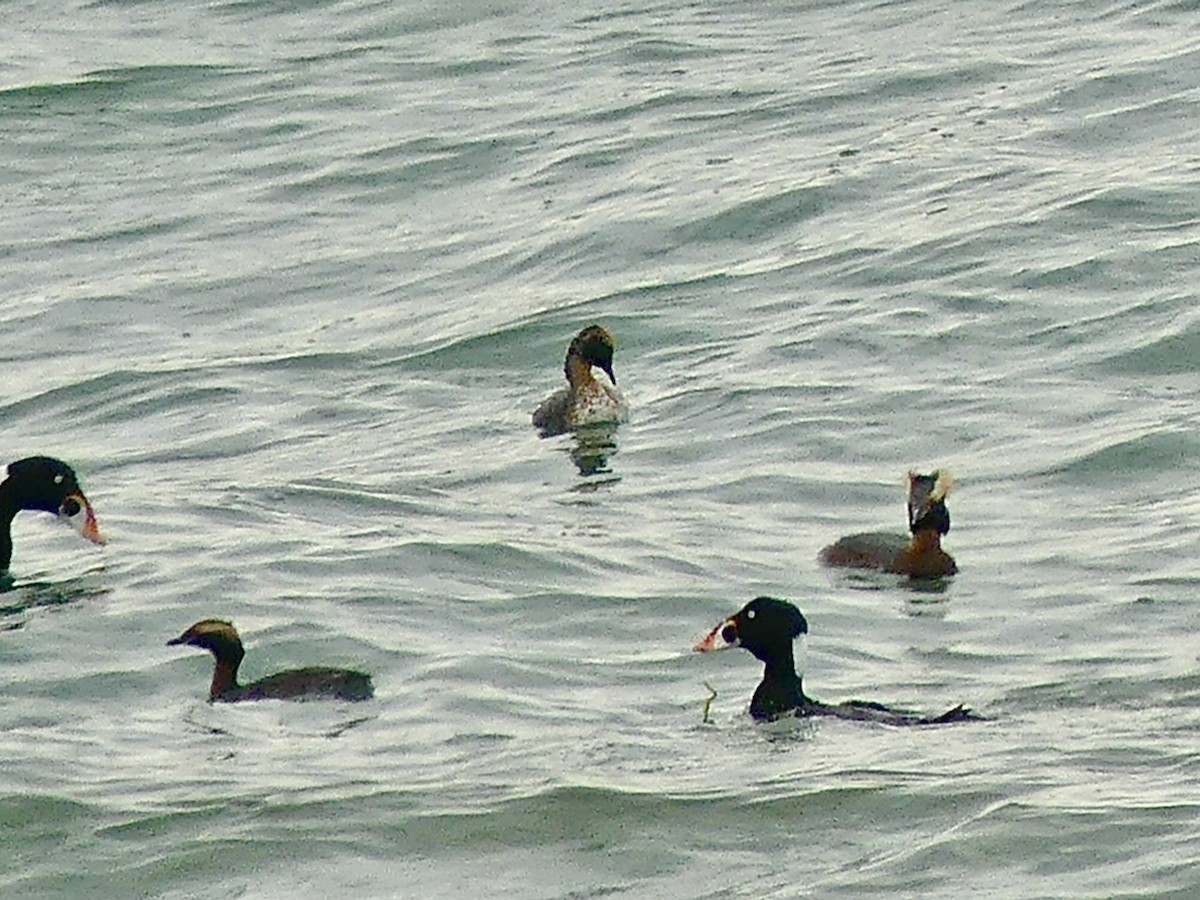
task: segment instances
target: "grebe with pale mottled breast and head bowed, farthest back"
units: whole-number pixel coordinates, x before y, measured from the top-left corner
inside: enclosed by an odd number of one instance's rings
[[[563,364],[566,386],[546,397],[533,413],[534,427],[542,437],[629,419],[629,407],[617,390],[612,371],[616,346],[612,335],[600,325],[588,325],[575,336]],[[596,379],[593,366],[608,376],[607,383]]]

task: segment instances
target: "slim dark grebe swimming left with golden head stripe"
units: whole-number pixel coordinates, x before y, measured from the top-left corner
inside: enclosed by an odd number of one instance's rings
[[[238,666],[246,650],[232,622],[204,619],[179,637],[167,641],[168,647],[186,643],[209,650],[216,665],[209,701],[233,703],[241,700],[368,700],[374,694],[371,676],[349,668],[293,668],[260,678],[250,684],[238,684]]]

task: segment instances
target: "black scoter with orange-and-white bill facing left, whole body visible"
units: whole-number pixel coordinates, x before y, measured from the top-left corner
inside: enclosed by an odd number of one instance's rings
[[[710,653],[742,647],[762,661],[762,683],[750,700],[750,715],[760,721],[830,715],[882,725],[946,725],[980,718],[962,706],[941,715],[926,716],[863,700],[834,704],[812,700],[804,694],[792,648],[793,642],[804,638],[808,632],[809,623],[794,605],[787,600],[760,596],[719,623],[694,649]]]

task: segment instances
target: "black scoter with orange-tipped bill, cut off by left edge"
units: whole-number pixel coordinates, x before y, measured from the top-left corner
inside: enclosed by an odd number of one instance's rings
[[[11,462],[0,481],[0,572],[12,562],[12,520],[20,510],[50,512],[92,544],[104,544],[74,470],[52,456]]]

